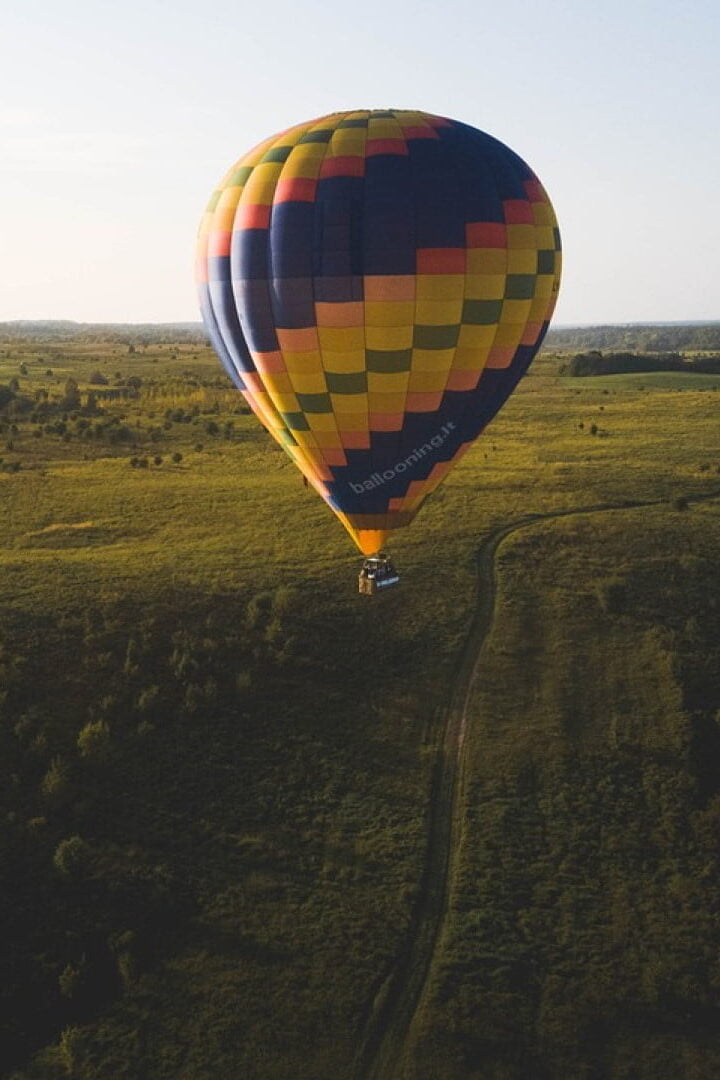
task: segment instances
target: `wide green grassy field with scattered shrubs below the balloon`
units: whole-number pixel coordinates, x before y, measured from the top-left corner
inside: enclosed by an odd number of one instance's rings
[[[367,600],[204,346],[0,343],[0,1076],[720,1074],[720,380],[558,369]],[[513,525],[388,1072],[359,1048]]]

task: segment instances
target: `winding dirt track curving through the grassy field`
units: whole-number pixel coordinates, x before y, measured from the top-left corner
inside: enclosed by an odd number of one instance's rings
[[[689,497],[689,502],[717,499],[720,491]],[[460,666],[445,715],[433,770],[429,836],[420,897],[400,953],[368,1005],[355,1059],[354,1080],[399,1080],[397,1069],[412,1022],[427,985],[435,949],[448,909],[452,856],[462,786],[463,743],[467,708],[479,669],[483,645],[492,627],[495,607],[495,555],[507,537],[539,522],[613,510],[667,505],[667,500],[600,503],[532,514],[489,532],[477,552],[477,600]]]

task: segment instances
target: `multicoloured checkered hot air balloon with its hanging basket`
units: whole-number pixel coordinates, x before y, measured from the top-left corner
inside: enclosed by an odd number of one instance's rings
[[[213,194],[198,244],[212,343],[368,556],[367,591],[396,580],[385,541],[527,370],[559,274],[534,173],[426,112],[298,124]]]

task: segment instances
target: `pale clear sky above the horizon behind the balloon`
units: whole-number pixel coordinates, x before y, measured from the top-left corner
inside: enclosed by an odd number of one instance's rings
[[[420,108],[555,206],[555,324],[720,319],[717,0],[24,0],[0,42],[0,321],[199,319],[198,222],[266,136]]]

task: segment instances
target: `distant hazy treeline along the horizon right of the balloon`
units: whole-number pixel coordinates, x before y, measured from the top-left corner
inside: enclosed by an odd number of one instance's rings
[[[556,349],[627,349],[641,352],[720,351],[720,322],[568,326],[561,329],[551,328],[545,343]]]

